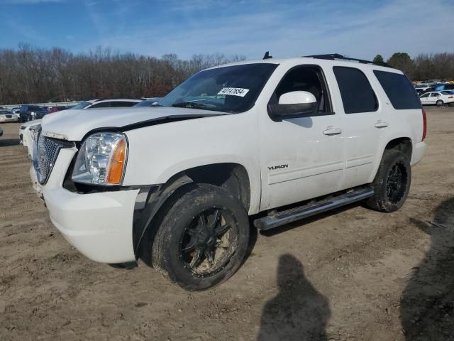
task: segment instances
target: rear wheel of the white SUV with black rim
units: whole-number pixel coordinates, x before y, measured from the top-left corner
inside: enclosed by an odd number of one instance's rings
[[[406,154],[397,149],[383,153],[377,175],[372,182],[375,195],[370,197],[366,206],[380,212],[399,210],[409,194],[411,184],[411,166]]]

